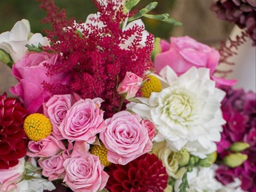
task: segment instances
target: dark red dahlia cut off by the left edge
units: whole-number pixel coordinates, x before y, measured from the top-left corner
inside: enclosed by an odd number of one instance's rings
[[[16,98],[7,98],[6,93],[0,96],[0,169],[15,166],[26,154],[27,139],[22,124],[27,113]]]

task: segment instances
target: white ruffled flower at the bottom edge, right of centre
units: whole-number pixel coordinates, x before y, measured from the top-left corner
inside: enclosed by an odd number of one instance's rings
[[[222,184],[215,178],[213,168],[193,168],[192,172],[187,173],[189,188],[187,192],[216,192],[222,188]],[[181,179],[176,180],[174,191],[179,192],[179,186],[182,183]]]

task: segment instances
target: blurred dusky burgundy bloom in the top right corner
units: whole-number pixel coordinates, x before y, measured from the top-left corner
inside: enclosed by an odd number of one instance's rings
[[[256,1],[255,0],[214,0],[211,10],[219,19],[236,23],[247,28],[250,37],[256,43]]]

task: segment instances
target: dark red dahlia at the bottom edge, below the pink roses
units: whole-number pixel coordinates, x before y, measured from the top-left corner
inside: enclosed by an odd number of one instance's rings
[[[112,164],[106,189],[110,192],[163,192],[168,175],[154,154],[144,154],[122,166]]]

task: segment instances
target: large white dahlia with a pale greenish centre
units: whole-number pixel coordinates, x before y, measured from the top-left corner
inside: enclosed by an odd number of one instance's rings
[[[127,108],[154,124],[158,134],[154,138],[166,140],[171,150],[186,148],[191,154],[206,158],[216,150],[225,120],[220,102],[225,92],[215,88],[207,68],[190,68],[180,77],[166,66],[160,72],[161,92],[150,98],[138,98],[143,103],[131,103]]]

